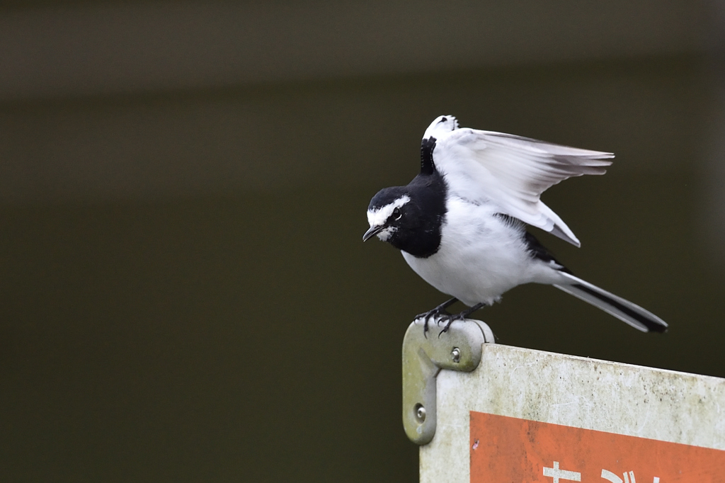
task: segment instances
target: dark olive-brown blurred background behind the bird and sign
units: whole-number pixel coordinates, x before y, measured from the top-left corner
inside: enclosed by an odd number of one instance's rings
[[[0,480],[413,482],[400,344],[444,300],[368,201],[437,115],[615,152],[502,344],[725,376],[722,5],[7,2]]]

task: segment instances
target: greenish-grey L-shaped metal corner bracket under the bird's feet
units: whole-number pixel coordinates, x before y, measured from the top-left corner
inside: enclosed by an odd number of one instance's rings
[[[454,321],[440,336],[436,328],[431,321],[424,334],[423,319],[418,319],[403,339],[403,426],[417,445],[427,445],[436,434],[438,373],[473,371],[481,362],[481,344],[494,342],[493,332],[481,321]]]

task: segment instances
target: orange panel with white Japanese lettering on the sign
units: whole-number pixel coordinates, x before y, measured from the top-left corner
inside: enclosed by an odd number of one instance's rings
[[[725,451],[471,411],[471,483],[723,483]]]

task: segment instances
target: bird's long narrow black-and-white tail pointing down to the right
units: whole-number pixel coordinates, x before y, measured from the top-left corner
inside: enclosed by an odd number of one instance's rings
[[[629,323],[634,329],[642,332],[665,332],[667,331],[667,323],[657,315],[645,310],[639,305],[617,297],[606,290],[600,289],[598,286],[589,284],[589,282],[581,280],[570,273],[562,272],[567,278],[571,278],[571,283],[566,285],[554,285],[556,288],[573,295],[584,302],[589,302],[595,307],[599,307],[610,315],[614,315],[621,321]]]

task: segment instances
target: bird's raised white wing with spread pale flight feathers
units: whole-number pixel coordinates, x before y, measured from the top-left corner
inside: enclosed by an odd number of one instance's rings
[[[614,154],[493,131],[443,127],[428,129],[436,138],[434,164],[445,176],[451,194],[494,202],[506,215],[581,245],[566,223],[539,198],[566,178],[604,174]]]

